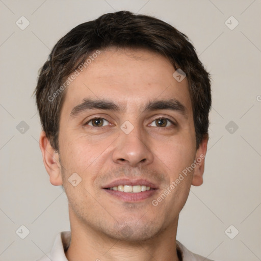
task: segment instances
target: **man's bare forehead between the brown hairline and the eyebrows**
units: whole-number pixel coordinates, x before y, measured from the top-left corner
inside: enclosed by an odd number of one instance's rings
[[[66,89],[63,114],[86,98],[112,100],[129,110],[150,100],[174,98],[191,110],[187,79],[177,82],[169,60],[149,50],[102,50],[78,71]]]

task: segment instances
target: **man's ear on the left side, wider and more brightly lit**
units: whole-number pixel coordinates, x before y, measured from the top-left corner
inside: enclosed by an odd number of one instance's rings
[[[43,131],[40,134],[39,144],[42,151],[43,163],[50,176],[51,184],[55,186],[63,185],[59,154],[51,146]]]

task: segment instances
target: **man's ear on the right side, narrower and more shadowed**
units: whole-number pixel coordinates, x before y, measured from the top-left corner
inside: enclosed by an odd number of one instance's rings
[[[192,178],[193,186],[200,186],[203,183],[203,173],[205,167],[205,155],[207,149],[207,142],[208,142],[208,137],[203,138],[202,142],[199,144],[199,147],[196,151],[196,155],[195,155],[196,167],[194,168],[194,173]]]

